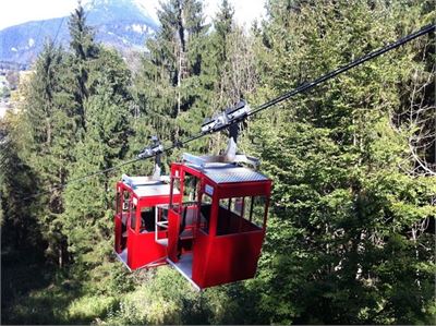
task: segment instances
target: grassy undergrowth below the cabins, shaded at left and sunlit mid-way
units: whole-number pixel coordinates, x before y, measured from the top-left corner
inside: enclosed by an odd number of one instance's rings
[[[3,250],[1,261],[1,324],[205,324],[214,313],[208,301],[221,305],[216,291],[195,291],[168,266],[130,274],[101,262],[60,270],[32,249]]]

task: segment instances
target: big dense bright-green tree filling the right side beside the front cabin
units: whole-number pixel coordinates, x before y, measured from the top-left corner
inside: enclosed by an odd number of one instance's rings
[[[422,14],[413,4],[290,4],[269,5],[261,92],[268,97],[407,34],[398,33],[404,31],[399,16],[407,31],[417,29]],[[427,249],[434,236],[415,226],[434,215],[435,184],[399,168],[410,165],[408,145],[405,133],[392,130],[390,114],[403,98],[396,83],[416,64],[410,47],[283,104],[252,129],[275,180],[276,205],[261,280],[254,282],[257,290],[265,282],[259,309],[267,322],[431,319]]]

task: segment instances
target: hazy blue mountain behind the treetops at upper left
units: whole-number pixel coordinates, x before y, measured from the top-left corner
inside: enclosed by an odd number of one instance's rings
[[[85,4],[96,40],[120,51],[144,49],[158,24],[135,0],[92,0]],[[28,22],[0,31],[0,62],[32,63],[47,38],[69,46],[69,16]]]

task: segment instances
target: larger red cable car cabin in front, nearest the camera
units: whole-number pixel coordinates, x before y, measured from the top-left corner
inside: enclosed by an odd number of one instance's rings
[[[271,190],[262,173],[216,158],[172,164],[170,205],[157,208],[168,216],[168,263],[199,289],[254,277]]]

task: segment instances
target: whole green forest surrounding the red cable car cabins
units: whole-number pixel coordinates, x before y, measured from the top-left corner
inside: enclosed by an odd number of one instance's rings
[[[210,23],[201,0],[164,0],[136,64],[95,41],[81,5],[69,48],[47,40],[0,120],[2,324],[436,324],[434,32],[244,125],[240,150],[272,180],[255,278],[197,291],[171,266],[130,273],[117,259],[116,183],[153,160],[77,179],[436,19],[431,0],[265,5],[243,27],[227,0]],[[175,148],[164,172],[226,138]]]

